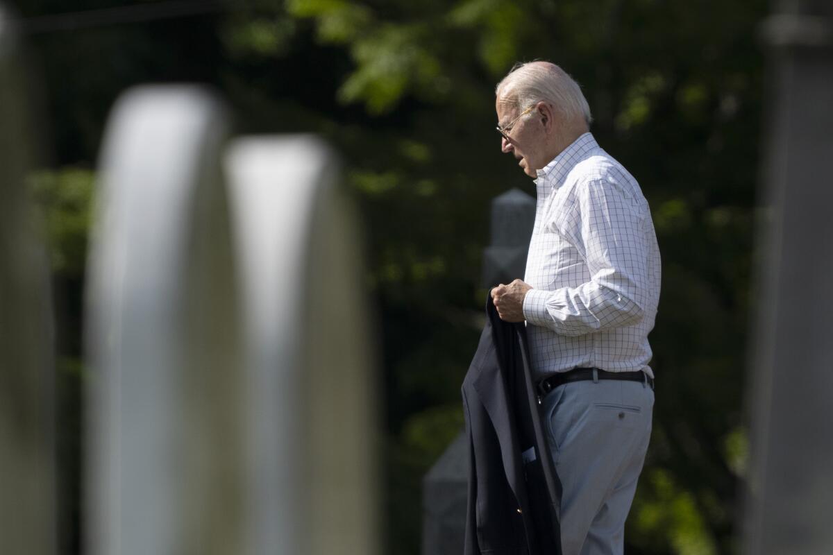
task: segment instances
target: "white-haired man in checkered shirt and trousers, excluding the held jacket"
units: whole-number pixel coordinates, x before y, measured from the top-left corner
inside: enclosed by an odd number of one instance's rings
[[[501,150],[535,178],[537,207],[524,280],[491,296],[502,320],[526,320],[562,486],[563,553],[622,553],[654,404],[651,212],[589,132],[590,108],[560,67],[514,68],[496,87],[496,111]]]

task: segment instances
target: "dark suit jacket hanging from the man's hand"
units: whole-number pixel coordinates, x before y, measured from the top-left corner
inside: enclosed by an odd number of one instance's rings
[[[532,387],[526,327],[501,320],[491,295],[486,315],[462,385],[471,444],[464,553],[560,554],[560,484]]]

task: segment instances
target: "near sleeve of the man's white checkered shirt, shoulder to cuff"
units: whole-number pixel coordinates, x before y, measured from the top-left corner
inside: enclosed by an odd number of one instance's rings
[[[526,321],[562,335],[639,323],[648,281],[646,217],[646,201],[616,181],[577,184],[550,225],[576,247],[591,279],[575,287],[529,290],[523,302]]]

